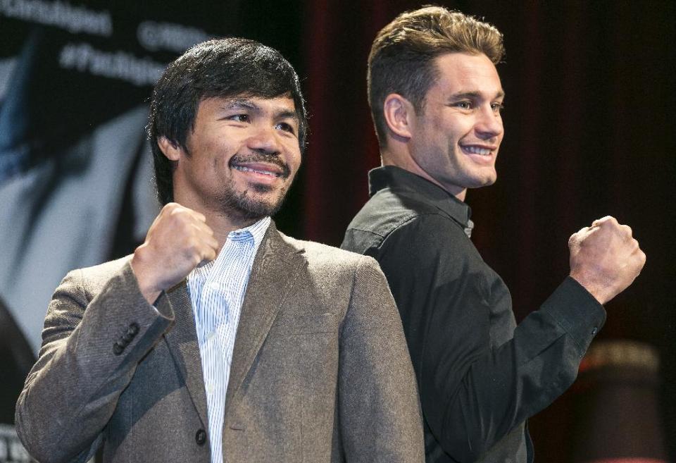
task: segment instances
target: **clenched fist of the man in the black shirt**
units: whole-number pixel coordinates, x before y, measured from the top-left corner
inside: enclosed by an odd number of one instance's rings
[[[606,304],[632,284],[646,263],[646,254],[632,229],[606,216],[568,240],[570,276],[596,300]]]

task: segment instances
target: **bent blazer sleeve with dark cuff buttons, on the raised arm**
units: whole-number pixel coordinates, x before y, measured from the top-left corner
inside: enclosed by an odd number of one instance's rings
[[[43,463],[87,461],[138,362],[173,320],[165,295],[157,309],[144,300],[128,262],[112,276],[89,272],[68,273],[54,292],[17,402],[18,436]]]

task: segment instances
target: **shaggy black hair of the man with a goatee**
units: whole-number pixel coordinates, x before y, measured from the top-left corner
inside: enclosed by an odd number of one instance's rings
[[[206,47],[215,53],[232,49],[230,66],[204,66],[208,58],[204,56]],[[177,58],[158,81],[151,101],[148,134],[161,204],[173,201],[175,162],[163,153],[160,138],[173,140],[187,151],[187,136],[194,129],[196,106],[201,99],[247,97],[253,92],[264,99],[286,95],[293,100],[301,151],[305,148],[307,115],[296,72],[285,60],[280,61],[283,58],[277,51],[261,48],[252,55],[252,48],[251,42],[244,39],[205,42]],[[191,72],[187,74],[186,70]]]

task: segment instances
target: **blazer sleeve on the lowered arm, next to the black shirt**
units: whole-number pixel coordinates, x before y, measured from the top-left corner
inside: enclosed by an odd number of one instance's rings
[[[356,269],[340,343],[338,412],[346,462],[423,462],[420,405],[401,320],[369,257]]]

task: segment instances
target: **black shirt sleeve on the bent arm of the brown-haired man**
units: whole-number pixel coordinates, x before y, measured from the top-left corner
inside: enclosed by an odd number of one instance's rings
[[[463,239],[440,244],[425,230]],[[446,218],[420,217],[367,253],[401,311],[425,421],[458,462],[475,461],[561,395],[605,321],[603,307],[566,278],[511,340],[491,345],[492,288],[469,260],[480,259],[476,250]]]

